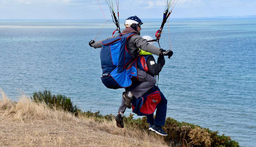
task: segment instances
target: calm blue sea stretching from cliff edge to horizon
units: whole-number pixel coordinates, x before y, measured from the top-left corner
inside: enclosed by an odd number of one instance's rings
[[[141,34],[154,37],[161,19],[143,22]],[[84,111],[116,114],[123,89],[103,86],[100,49],[88,45],[103,23],[0,20],[0,87],[13,100],[46,88]],[[97,40],[114,29],[107,23]],[[167,117],[255,146],[256,18],[171,19],[169,29],[174,54],[159,76]],[[161,47],[169,49],[167,23],[163,31]]]

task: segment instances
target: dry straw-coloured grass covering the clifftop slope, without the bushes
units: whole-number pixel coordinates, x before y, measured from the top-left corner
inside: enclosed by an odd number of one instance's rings
[[[136,128],[121,129],[115,121],[96,122],[33,103],[22,95],[11,102],[0,89],[0,146],[157,146],[167,144]]]

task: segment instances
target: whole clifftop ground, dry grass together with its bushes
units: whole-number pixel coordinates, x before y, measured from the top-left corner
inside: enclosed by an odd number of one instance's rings
[[[0,92],[1,146],[239,146],[218,131],[170,117],[163,127],[168,136],[162,137],[148,131],[146,117],[130,114],[121,129],[113,115],[82,112],[64,95],[45,90],[12,102]]]

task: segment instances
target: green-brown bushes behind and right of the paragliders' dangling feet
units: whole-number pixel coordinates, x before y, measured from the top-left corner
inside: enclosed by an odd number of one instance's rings
[[[124,116],[124,122],[127,127],[136,127],[146,132],[148,130],[147,118],[133,119],[134,114],[129,117]],[[165,142],[171,146],[194,146],[194,147],[239,147],[238,142],[231,140],[224,134],[218,135],[218,131],[210,131],[208,128],[202,128],[198,125],[188,122],[178,122],[167,117],[163,130],[168,133],[164,138]]]

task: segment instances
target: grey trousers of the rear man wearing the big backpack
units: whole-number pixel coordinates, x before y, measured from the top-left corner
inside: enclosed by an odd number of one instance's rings
[[[137,75],[139,82],[142,83],[133,88],[133,90],[131,90],[131,93],[135,98],[140,98],[143,94],[150,90],[157,81],[153,76],[140,69],[137,69]],[[118,112],[125,112],[125,109],[125,99],[122,97],[121,106],[119,107]]]

